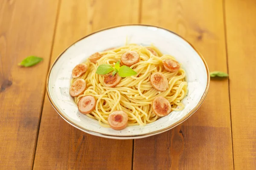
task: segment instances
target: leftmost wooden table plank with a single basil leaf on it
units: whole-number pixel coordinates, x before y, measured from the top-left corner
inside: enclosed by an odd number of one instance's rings
[[[58,1],[0,1],[0,169],[32,167]],[[29,55],[44,61],[17,65]]]

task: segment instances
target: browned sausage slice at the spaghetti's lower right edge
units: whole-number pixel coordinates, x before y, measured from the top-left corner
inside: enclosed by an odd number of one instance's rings
[[[170,102],[162,96],[158,96],[153,100],[152,108],[153,112],[160,117],[166,116],[172,111]]]

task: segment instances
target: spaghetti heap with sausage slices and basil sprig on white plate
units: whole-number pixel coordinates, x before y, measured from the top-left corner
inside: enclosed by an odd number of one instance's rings
[[[185,71],[155,46],[137,44],[92,54],[72,71],[70,95],[103,127],[146,125],[184,108]]]

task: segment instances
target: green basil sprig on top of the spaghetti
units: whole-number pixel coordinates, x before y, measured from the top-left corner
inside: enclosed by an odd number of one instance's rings
[[[116,62],[114,67],[108,64],[102,64],[99,65],[97,68],[96,73],[100,75],[108,74],[109,72],[113,71],[112,75],[114,76],[116,73],[119,74],[120,77],[129,77],[137,74],[136,71],[133,69],[127,67],[126,65],[123,65],[120,67],[120,61]]]

